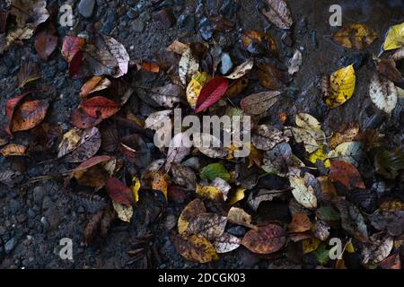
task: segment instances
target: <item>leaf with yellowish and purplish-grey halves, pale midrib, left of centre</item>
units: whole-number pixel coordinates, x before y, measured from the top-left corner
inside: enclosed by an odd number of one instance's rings
[[[90,159],[101,147],[101,134],[98,128],[80,130],[73,128],[63,135],[59,143],[57,158],[66,162],[82,162]]]

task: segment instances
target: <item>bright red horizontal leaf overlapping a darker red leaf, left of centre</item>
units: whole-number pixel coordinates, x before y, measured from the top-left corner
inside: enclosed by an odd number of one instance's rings
[[[101,117],[102,119],[111,117],[119,111],[119,104],[102,96],[85,100],[80,107],[90,117]]]

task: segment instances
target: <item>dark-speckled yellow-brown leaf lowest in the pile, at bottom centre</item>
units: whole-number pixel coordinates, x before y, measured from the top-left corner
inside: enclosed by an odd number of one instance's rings
[[[174,244],[180,255],[189,261],[208,263],[219,259],[215,247],[209,240],[197,235],[176,236]]]

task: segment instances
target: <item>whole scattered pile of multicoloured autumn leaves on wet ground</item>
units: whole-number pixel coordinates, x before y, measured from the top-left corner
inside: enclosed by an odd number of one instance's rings
[[[10,10],[0,14],[0,53],[35,34],[35,48],[46,61],[57,48],[46,2],[20,5],[35,15],[30,18],[33,22],[13,9],[24,1],[12,2]],[[273,29],[293,29],[285,1],[264,2],[259,9]],[[14,22],[7,20],[8,14]],[[214,23],[212,33],[232,32],[234,27],[224,17],[210,22]],[[370,27],[358,23],[334,35],[340,45],[355,49],[366,48],[376,37]],[[81,102],[71,115],[71,129],[63,132],[47,123],[48,100],[40,100],[40,91],[26,90],[7,100],[8,124],[0,137],[0,152],[5,157],[26,157],[57,150],[50,160],[75,164],[63,174],[66,190],[74,193],[77,186],[88,187],[109,196],[110,206],[94,214],[83,229],[86,244],[98,234],[107,236],[116,218],[131,222],[142,202],[139,192],[154,191],[163,202],[189,200],[171,237],[189,261],[208,263],[243,246],[259,257],[286,257],[294,264],[312,257],[319,265],[335,268],[357,262],[365,267],[400,268],[402,146],[391,146],[385,135],[360,130],[357,123],[326,134],[321,122],[307,113],[279,112],[276,122],[269,120],[272,107],[283,100],[303,61],[300,49],[289,59],[279,58],[276,42],[268,31],[242,30],[242,54],[233,57],[238,65],[228,69],[229,54],[214,42],[175,40],[148,62],[131,61],[119,41],[97,31],[68,35],[61,48],[67,74],[85,79],[77,95]],[[403,44],[401,23],[389,30],[381,57],[373,57],[369,97],[386,117],[403,94],[398,68],[404,58]],[[164,84],[137,85],[134,78],[145,83],[158,78]],[[40,72],[26,63],[19,79],[24,88],[40,79]],[[259,83],[263,91],[245,96],[250,82]],[[355,87],[355,63],[321,79],[329,109],[338,109],[355,96]],[[133,102],[145,112],[133,113]],[[235,157],[241,148],[236,145],[189,147],[184,131],[169,139],[168,148],[154,146],[156,137],[172,131],[175,108],[197,117],[250,116],[251,143],[244,146],[250,154]],[[28,130],[34,142],[18,144],[16,139]],[[19,176],[17,171],[7,171],[0,180],[13,186],[20,182]],[[343,242],[335,260],[329,257],[333,238]]]

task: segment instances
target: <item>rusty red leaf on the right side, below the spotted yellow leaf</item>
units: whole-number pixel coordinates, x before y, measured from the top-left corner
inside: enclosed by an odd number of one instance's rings
[[[329,177],[346,186],[348,189],[365,188],[359,170],[347,161],[331,161]]]

